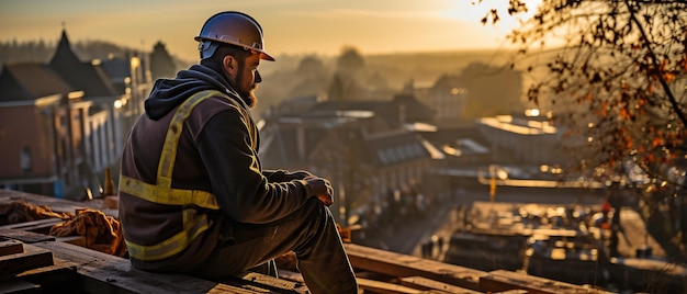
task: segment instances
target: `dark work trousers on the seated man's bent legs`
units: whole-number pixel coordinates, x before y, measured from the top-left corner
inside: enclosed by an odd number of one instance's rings
[[[358,293],[331,212],[316,197],[280,220],[236,225],[234,236],[234,241],[218,247],[201,269],[194,269],[193,275],[221,280],[294,251],[312,293]]]

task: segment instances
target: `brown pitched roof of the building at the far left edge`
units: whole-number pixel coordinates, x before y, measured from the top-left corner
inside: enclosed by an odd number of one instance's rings
[[[40,81],[40,82],[37,82]],[[4,65],[0,72],[0,101],[34,100],[75,91],[46,65],[22,63]]]

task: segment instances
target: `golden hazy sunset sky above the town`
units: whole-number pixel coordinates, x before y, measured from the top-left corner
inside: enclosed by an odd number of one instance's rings
[[[475,0],[476,1],[476,0]],[[102,39],[150,50],[157,41],[172,55],[195,60],[202,24],[236,10],[260,22],[266,49],[337,55],[497,48],[516,24],[483,26],[480,19],[507,0],[0,0],[0,41],[56,42],[63,23],[72,42]],[[505,11],[504,13],[505,14]]]

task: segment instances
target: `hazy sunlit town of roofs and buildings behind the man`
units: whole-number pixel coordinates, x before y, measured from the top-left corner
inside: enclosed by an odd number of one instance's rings
[[[101,197],[104,183],[117,181],[122,144],[144,113],[153,82],[173,76],[190,61],[173,58],[161,42],[150,53],[89,55],[85,47],[75,46],[67,31],[56,46],[37,47],[31,46],[36,52],[21,56],[0,54],[0,189],[72,201]],[[532,225],[544,218],[533,211],[488,208],[488,203],[502,200],[556,203],[548,208],[558,214],[548,214],[545,222],[562,225],[573,219],[575,225],[566,226],[565,234],[578,237],[582,233],[576,229],[584,224],[584,234],[609,238],[602,229],[590,227],[610,222],[609,211],[601,205],[618,183],[574,172],[579,157],[593,150],[586,148],[584,138],[571,136],[565,125],[553,123],[545,103],[536,105],[523,98],[531,77],[507,66],[507,54],[368,56],[350,47],[335,57],[284,56],[279,66],[263,64],[263,82],[257,92],[260,102],[254,110],[261,132],[261,163],[266,169],[311,170],[330,179],[337,220],[352,230],[356,242],[382,249],[413,253],[418,242],[425,246],[428,238],[423,227],[415,229],[416,240],[405,249],[402,241],[390,241],[393,236],[382,236],[390,230],[401,235],[415,220],[433,222],[436,212],[441,212],[441,222],[452,219],[459,230],[438,236],[440,253],[424,247],[421,255],[457,264],[477,262],[464,256],[466,248],[500,244],[495,251],[513,250],[508,252],[520,259],[499,260],[496,267],[518,270],[534,264],[522,263],[527,248],[521,246],[528,240],[530,246],[545,247],[553,246],[542,245],[549,240],[565,238],[560,231],[528,239],[504,237],[513,230],[488,230],[499,226],[484,224],[497,219],[529,226],[515,235],[544,234],[544,227]],[[480,204],[473,206],[473,201]],[[565,206],[573,203],[583,206]],[[637,205],[623,203],[613,207],[617,215],[621,206]],[[514,211],[520,213],[514,215]],[[473,230],[481,237],[461,235]],[[514,239],[517,245],[508,247]],[[597,258],[607,255],[608,241],[584,245],[595,264],[599,260],[610,264],[610,258]],[[629,246],[623,253],[651,256],[651,251],[633,249]],[[536,262],[536,257],[541,256],[530,252],[528,262]],[[545,275],[547,264],[530,269]],[[595,272],[568,278],[593,284],[598,276]],[[605,282],[618,283],[610,278]]]

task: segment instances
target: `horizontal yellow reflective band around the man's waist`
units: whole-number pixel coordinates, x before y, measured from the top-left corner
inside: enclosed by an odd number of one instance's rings
[[[120,191],[149,202],[167,205],[198,205],[219,210],[217,199],[210,192],[185,189],[164,189],[126,176],[120,176]]]

